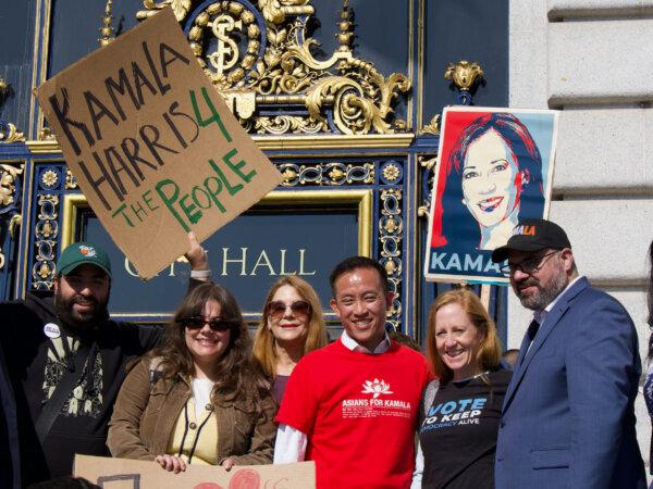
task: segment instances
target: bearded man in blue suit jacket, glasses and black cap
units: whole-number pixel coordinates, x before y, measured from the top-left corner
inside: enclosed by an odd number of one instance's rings
[[[534,311],[506,392],[495,485],[645,488],[633,402],[641,374],[624,306],[578,275],[565,231],[522,221],[492,253]]]

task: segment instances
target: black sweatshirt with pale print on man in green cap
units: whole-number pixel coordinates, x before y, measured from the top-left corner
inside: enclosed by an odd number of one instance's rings
[[[44,326],[49,323],[58,325],[58,338],[46,336]],[[51,300],[33,296],[0,304],[0,346],[16,402],[23,485],[71,474],[75,453],[109,455],[108,424],[125,364],[155,347],[163,328],[103,321],[84,338],[72,336]],[[34,425],[79,341],[95,342],[96,348],[41,447]]]

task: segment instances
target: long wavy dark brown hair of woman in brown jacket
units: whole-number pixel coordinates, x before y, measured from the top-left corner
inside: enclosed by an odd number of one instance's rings
[[[186,346],[186,328],[183,319],[204,315],[205,304],[215,301],[220,304],[220,317],[231,324],[231,335],[226,351],[215,362],[215,383],[212,396],[215,401],[233,401],[235,398],[254,401],[269,389],[269,383],[251,358],[251,340],[243,319],[241,308],[233,294],[215,284],[202,284],[194,288],[174,313],[167,327],[162,346],[150,356],[160,359],[158,368],[163,377],[177,375],[192,377],[195,373],[193,354]]]

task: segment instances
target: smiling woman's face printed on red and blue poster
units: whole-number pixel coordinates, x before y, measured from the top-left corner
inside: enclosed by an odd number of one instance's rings
[[[469,146],[463,167],[464,203],[481,226],[519,212],[522,175],[510,148],[491,129]]]

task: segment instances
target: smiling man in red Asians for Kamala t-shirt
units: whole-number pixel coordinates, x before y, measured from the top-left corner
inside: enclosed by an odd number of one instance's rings
[[[349,258],[330,280],[344,331],[293,371],[274,463],[315,461],[318,488],[407,488],[426,359],[387,338],[393,294],[377,261]]]

